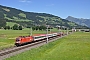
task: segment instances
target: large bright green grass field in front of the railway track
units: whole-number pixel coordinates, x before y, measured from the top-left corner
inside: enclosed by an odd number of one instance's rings
[[[90,60],[90,33],[76,32],[6,60]]]

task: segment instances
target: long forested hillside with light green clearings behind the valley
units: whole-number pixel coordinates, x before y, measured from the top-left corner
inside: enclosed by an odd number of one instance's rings
[[[66,26],[69,28],[87,28],[86,26],[81,26],[76,23],[67,21],[58,16],[47,14],[47,13],[36,13],[36,12],[26,12],[20,9],[6,7],[0,5],[0,22],[3,22],[3,26],[7,23],[17,23],[24,27],[31,27],[35,25],[51,25],[53,27]],[[1,24],[1,23],[0,23]]]

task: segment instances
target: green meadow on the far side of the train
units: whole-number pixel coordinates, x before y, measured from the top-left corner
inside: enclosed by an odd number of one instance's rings
[[[58,31],[53,29],[52,32]],[[34,34],[45,34],[46,31],[32,31]],[[15,39],[18,36],[28,36],[30,35],[30,29],[23,30],[0,30],[0,50],[8,47],[14,46]]]

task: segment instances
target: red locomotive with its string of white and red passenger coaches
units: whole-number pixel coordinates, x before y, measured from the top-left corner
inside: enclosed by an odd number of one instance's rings
[[[48,38],[52,38],[52,37],[61,36],[61,35],[62,35],[61,33],[51,33],[51,34],[39,34],[35,36],[19,36],[16,38],[15,45],[19,46],[28,42],[47,39],[47,36]]]

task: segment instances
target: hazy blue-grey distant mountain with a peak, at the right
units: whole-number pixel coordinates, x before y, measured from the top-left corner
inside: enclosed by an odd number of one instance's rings
[[[79,25],[87,26],[87,27],[90,28],[90,19],[75,18],[75,17],[72,17],[72,16],[68,16],[66,18],[66,20],[72,21],[72,22],[75,22],[75,23],[77,23]]]

